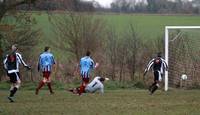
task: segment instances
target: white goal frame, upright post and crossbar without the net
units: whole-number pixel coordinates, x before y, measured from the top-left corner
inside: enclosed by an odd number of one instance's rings
[[[165,26],[165,61],[169,61],[169,30],[173,29],[200,29],[200,26]],[[169,67],[170,68],[170,67]],[[168,71],[165,71],[165,91],[168,90]]]

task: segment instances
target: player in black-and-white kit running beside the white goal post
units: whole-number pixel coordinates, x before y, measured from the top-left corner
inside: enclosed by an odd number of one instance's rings
[[[161,58],[161,52],[157,54],[156,58],[153,58],[147,65],[144,76],[153,67],[154,72],[154,83],[149,87],[150,94],[153,94],[159,87],[159,82],[162,81],[162,75],[164,71],[168,70],[168,65],[166,61]]]

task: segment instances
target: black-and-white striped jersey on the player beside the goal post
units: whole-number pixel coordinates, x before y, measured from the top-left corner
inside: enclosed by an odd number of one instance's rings
[[[150,68],[152,68],[153,71],[160,71],[162,74],[165,70],[168,69],[168,65],[163,58],[156,57],[156,58],[153,58],[151,61],[149,61],[148,65],[145,69],[145,72],[149,71]]]

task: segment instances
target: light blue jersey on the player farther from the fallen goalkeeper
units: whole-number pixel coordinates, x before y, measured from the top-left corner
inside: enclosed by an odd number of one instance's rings
[[[38,67],[42,71],[51,71],[53,64],[55,64],[53,54],[44,52],[40,55]]]

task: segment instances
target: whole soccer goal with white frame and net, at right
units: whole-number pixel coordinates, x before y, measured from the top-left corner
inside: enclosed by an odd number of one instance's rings
[[[200,86],[200,26],[166,26],[165,60],[165,91],[182,80],[185,87]]]

